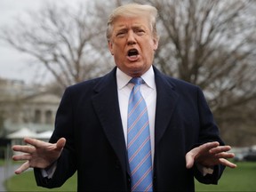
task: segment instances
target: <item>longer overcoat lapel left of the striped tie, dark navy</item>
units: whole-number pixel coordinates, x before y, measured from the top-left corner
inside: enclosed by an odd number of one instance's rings
[[[94,87],[95,94],[92,95],[92,104],[99,116],[100,124],[108,138],[116,156],[126,172],[126,147],[124,140],[123,125],[117,96],[116,68],[108,75],[100,79],[99,84]]]

